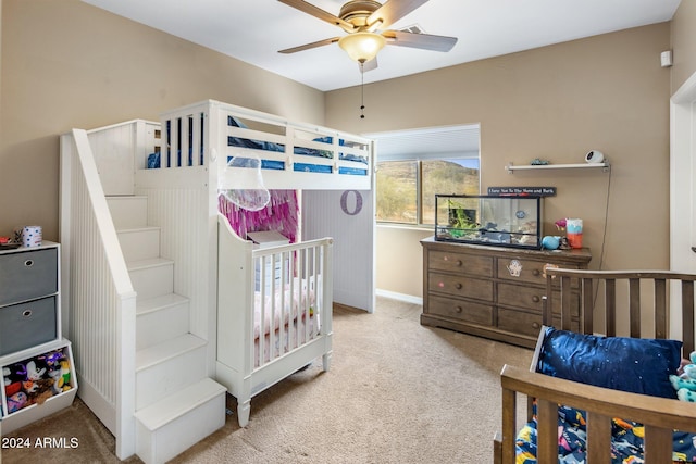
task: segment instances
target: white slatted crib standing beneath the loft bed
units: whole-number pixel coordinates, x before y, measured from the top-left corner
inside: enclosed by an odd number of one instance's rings
[[[251,397],[332,354],[332,239],[253,249],[219,216],[216,379],[237,399],[239,426]]]

